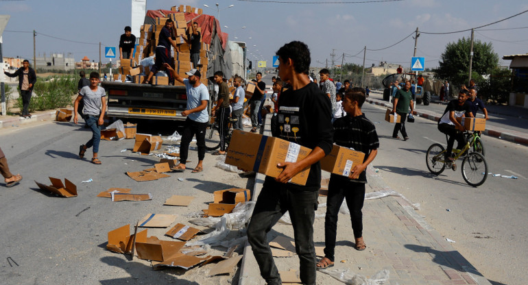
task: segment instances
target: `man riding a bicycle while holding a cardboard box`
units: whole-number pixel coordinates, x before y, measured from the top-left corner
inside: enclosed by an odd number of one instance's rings
[[[461,125],[457,118],[469,116],[474,118],[471,112],[471,103],[467,101],[468,91],[460,90],[458,99],[451,100],[444,111],[444,115],[438,121],[438,130],[449,136],[447,140],[446,161],[453,162],[451,151],[453,151],[453,144],[455,140],[458,142],[457,149],[461,149],[466,145],[466,138],[464,138],[464,126]]]

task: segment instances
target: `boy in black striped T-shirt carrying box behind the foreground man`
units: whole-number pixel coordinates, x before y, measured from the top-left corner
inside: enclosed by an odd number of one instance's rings
[[[331,174],[328,183],[328,199],[326,199],[326,217],[324,220],[324,258],[317,262],[317,268],[332,267],[334,264],[335,236],[337,234],[337,214],[341,203],[346,199],[350,210],[350,221],[355,238],[355,248],[364,250],[363,241],[363,201],[365,200],[365,184],[367,175],[365,169],[378,154],[379,140],[376,127],[369,121],[361,106],[365,102],[365,90],[352,88],[343,98],[343,109],[346,116],[335,120],[334,141],[342,147],[352,147],[365,153],[363,164],[352,165],[348,177]]]

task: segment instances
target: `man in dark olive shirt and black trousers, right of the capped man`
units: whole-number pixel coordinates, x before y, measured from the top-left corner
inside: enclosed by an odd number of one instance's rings
[[[231,108],[229,106],[229,88],[228,84],[224,82],[224,73],[221,71],[215,72],[215,82],[218,84],[218,101],[215,108],[211,110],[211,116],[217,115],[218,132],[220,135],[220,150],[213,153],[215,156],[226,154],[226,136],[229,132],[229,116],[231,115]]]

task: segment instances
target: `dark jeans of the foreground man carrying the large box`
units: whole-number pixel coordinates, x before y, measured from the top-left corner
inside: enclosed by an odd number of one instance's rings
[[[300,280],[302,284],[315,284],[313,219],[318,195],[317,191],[291,190],[289,184],[280,184],[266,177],[248,225],[248,242],[267,284],[280,284],[267,233],[286,211],[293,225],[295,249],[300,260]]]

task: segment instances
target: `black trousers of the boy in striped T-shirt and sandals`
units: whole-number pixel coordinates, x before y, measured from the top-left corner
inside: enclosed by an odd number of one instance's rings
[[[352,231],[355,238],[363,236],[363,201],[365,201],[365,184],[330,178],[328,198],[326,199],[326,216],[324,218],[324,256],[334,261],[335,238],[337,236],[337,216],[341,203],[346,199],[350,211]]]

